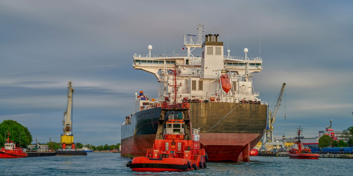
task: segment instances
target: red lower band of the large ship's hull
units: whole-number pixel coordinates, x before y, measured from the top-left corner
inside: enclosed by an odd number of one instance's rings
[[[200,136],[202,135],[203,133],[200,133]],[[152,147],[155,137],[155,134],[147,134],[122,139],[121,143],[125,145],[121,148],[121,155],[145,156],[147,149]],[[210,162],[249,162],[250,149],[261,137],[260,134],[207,133],[200,142]],[[220,143],[222,145],[217,145]]]

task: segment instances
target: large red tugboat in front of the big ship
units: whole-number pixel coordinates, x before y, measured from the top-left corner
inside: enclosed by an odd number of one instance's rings
[[[176,73],[173,70],[174,88],[176,95],[178,87]],[[173,102],[161,103],[161,115],[153,148],[149,148],[146,157],[134,157],[126,166],[138,172],[186,171],[206,168],[208,156],[201,149],[199,130],[192,129],[190,123],[189,103],[184,98],[177,103],[176,96]],[[166,118],[166,116],[168,118]]]

